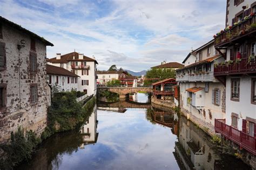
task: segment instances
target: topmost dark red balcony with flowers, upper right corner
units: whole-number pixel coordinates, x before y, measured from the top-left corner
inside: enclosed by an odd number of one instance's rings
[[[248,19],[244,19],[244,21],[241,21],[241,23],[237,25],[233,25],[230,30],[220,33],[220,35],[214,38],[215,47],[219,47],[228,42],[232,42],[240,36],[246,36],[252,32],[255,32],[256,29],[254,26],[251,26],[253,23],[256,23],[255,15],[248,17]]]

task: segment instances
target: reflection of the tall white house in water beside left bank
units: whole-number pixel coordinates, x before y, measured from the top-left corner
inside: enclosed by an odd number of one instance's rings
[[[84,126],[80,129],[80,133],[83,135],[83,140],[84,140],[84,144],[82,144],[80,148],[84,148],[84,145],[97,143],[97,139],[98,139],[97,125],[98,125],[97,106],[95,105],[89,119],[86,121]]]

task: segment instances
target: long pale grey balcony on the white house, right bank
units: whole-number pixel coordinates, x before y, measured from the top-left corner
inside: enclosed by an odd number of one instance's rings
[[[214,81],[213,71],[176,76],[176,81]]]

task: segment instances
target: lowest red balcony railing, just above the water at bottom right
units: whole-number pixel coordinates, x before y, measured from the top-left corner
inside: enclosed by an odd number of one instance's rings
[[[248,152],[256,155],[256,138],[237,130],[236,128],[226,125],[225,119],[215,119],[215,131],[221,133],[224,137],[232,140],[240,147],[246,149]]]

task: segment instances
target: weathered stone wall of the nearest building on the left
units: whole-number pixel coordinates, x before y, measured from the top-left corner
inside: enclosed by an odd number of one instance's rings
[[[26,44],[21,49],[19,76],[17,45],[21,39]],[[6,70],[0,71],[0,81],[1,84],[6,84],[7,97],[6,111],[0,113],[0,142],[8,140],[10,132],[16,131],[18,126],[40,134],[46,126],[47,117],[46,46],[36,40],[37,73],[32,76],[29,72],[30,36],[3,25],[3,39],[0,42],[5,43],[6,50]],[[36,104],[31,104],[30,85],[35,83],[38,100]]]

